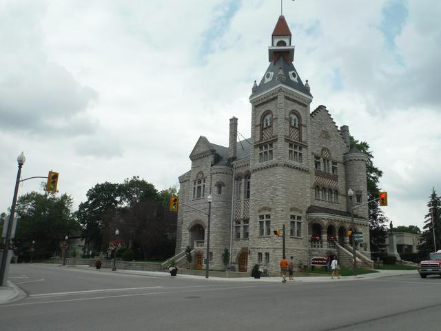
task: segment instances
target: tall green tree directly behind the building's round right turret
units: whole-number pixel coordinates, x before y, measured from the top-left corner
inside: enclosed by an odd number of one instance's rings
[[[373,200],[378,198],[378,181],[382,177],[383,172],[373,164],[373,153],[366,141],[358,141],[351,137],[351,148],[356,147],[360,152],[367,154],[367,198]],[[380,251],[381,245],[387,237],[387,223],[389,219],[384,215],[384,212],[379,208],[378,201],[371,201],[369,203],[369,237],[371,252],[376,253]]]

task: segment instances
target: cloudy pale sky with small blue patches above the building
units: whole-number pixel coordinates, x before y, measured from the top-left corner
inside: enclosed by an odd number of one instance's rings
[[[178,185],[198,137],[250,132],[279,0],[0,0],[0,212],[22,178],[60,173],[75,208],[96,183]],[[311,109],[369,143],[395,225],[441,193],[441,1],[285,0]],[[25,181],[20,193],[39,190]]]

